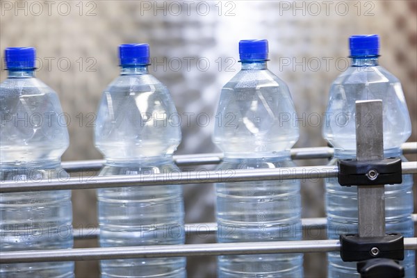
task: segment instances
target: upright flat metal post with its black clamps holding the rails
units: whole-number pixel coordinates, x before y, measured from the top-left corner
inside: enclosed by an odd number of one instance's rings
[[[404,268],[395,260],[404,259],[401,234],[385,234],[384,184],[401,183],[401,160],[384,159],[382,101],[356,101],[357,161],[338,163],[342,186],[358,186],[357,235],[341,235],[343,261],[361,261],[361,277],[403,277]],[[368,117],[372,121],[361,121]],[[375,261],[384,258],[384,261]]]

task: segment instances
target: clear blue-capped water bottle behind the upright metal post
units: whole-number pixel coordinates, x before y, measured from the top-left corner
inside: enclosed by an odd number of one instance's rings
[[[382,99],[384,106],[384,156],[402,156],[403,142],[411,135],[411,122],[405,104],[400,81],[378,65],[379,37],[354,35],[350,37],[352,65],[330,88],[327,117],[323,126],[324,138],[334,147],[336,165],[338,159],[356,158],[355,101]],[[371,120],[361,116],[361,120]],[[414,236],[413,181],[404,175],[401,184],[385,186],[386,233]],[[338,239],[339,234],[358,233],[357,187],[345,187],[337,179],[326,183],[326,209],[328,236]],[[406,277],[416,277],[414,254],[406,251],[402,265]],[[329,253],[329,277],[359,277],[356,263],[345,263],[338,253]]]

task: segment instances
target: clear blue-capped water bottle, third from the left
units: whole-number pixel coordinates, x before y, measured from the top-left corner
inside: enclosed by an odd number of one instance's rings
[[[242,70],[224,85],[213,141],[219,170],[292,167],[299,137],[288,86],[267,69],[268,41],[239,42]],[[300,240],[300,182],[250,181],[215,186],[218,242]],[[302,277],[302,254],[218,257],[219,277]]]

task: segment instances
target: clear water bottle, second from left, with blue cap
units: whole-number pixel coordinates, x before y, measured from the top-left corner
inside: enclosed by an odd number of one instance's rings
[[[165,85],[148,73],[149,45],[122,44],[122,71],[103,93],[95,145],[101,176],[178,172],[172,153],[181,142],[177,110]],[[183,244],[181,186],[98,190],[101,247]],[[101,261],[102,277],[185,277],[186,259]]]

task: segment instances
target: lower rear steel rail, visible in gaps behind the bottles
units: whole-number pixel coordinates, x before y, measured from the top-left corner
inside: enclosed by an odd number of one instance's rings
[[[414,223],[417,223],[417,214],[412,214]],[[326,218],[303,218],[303,229],[325,229],[327,226]],[[199,236],[207,234],[215,234],[218,230],[217,223],[191,223],[185,224],[186,234]],[[72,234],[75,239],[97,238],[100,234],[99,227],[86,227],[82,229],[73,229]]]

